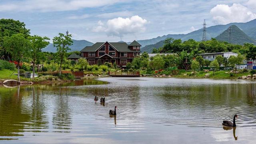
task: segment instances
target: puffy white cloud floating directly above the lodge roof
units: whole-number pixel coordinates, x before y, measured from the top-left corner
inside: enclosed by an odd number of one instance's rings
[[[92,29],[92,32],[105,32],[108,36],[122,37],[126,34],[135,34],[144,32],[146,30],[145,24],[147,20],[142,19],[140,16],[132,16],[130,18],[114,18],[108,20],[106,24],[101,21],[98,26]]]

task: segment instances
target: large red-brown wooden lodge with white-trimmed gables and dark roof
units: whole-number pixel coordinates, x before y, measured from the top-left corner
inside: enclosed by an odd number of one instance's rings
[[[98,60],[104,62],[116,62],[118,66],[125,67],[127,62],[140,55],[141,45],[134,40],[131,44],[126,42],[96,42],[92,46],[86,46],[80,52],[89,64],[97,64]]]

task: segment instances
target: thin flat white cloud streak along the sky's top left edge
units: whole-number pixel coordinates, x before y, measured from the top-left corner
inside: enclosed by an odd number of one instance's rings
[[[121,0],[20,0],[0,3],[1,11],[66,11],[111,5]]]

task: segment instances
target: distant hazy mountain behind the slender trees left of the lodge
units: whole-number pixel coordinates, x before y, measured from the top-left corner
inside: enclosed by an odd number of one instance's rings
[[[73,51],[80,51],[86,46],[92,46],[92,42],[88,42],[87,40],[73,40],[73,45],[69,46],[71,50],[68,52]],[[50,43],[46,48],[42,49],[43,52],[56,52],[56,48],[53,46],[52,43]]]

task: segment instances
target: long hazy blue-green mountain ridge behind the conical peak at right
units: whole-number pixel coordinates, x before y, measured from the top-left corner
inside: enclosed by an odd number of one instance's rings
[[[251,20],[250,22],[245,22],[245,23],[240,22],[240,23],[230,23],[226,25],[210,26],[206,29],[207,39],[210,40],[210,38],[215,38],[216,36],[220,35],[223,31],[225,31],[229,26],[232,26],[232,25],[238,26],[245,34],[247,34],[247,36],[250,36],[251,38],[256,39],[256,19]],[[142,45],[141,51],[146,51],[144,50],[144,47],[146,45],[156,44],[157,42],[160,42],[161,40],[165,40],[166,38],[174,38],[174,39],[180,38],[182,41],[192,38],[196,41],[201,41],[202,35],[203,35],[203,30],[201,28],[199,30],[190,32],[188,34],[168,34],[164,36],[158,36],[157,38],[152,38],[149,40],[138,40],[138,42]],[[148,51],[148,47],[146,48]]]

